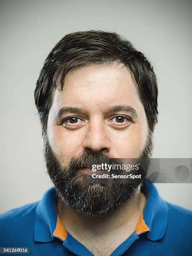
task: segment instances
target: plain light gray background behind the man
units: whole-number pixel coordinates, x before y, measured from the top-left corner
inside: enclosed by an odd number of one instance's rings
[[[192,3],[187,0],[0,2],[0,212],[40,200],[51,187],[33,91],[43,62],[67,33],[115,31],[146,54],[159,83],[155,158],[192,157]],[[192,184],[156,184],[192,209]]]

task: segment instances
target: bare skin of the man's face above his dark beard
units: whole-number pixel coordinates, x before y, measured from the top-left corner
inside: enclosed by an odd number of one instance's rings
[[[136,113],[113,111],[117,106],[131,107]],[[80,110],[63,113],[57,122],[58,112],[64,107]],[[70,119],[62,124],[67,118]],[[109,153],[115,158],[140,156],[147,140],[148,124],[128,69],[120,65],[97,65],[69,72],[63,90],[54,93],[47,135],[63,164],[87,150]]]

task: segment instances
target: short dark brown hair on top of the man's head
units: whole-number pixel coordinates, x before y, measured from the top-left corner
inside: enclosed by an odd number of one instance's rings
[[[81,31],[64,36],[52,49],[36,83],[35,103],[43,132],[52,104],[54,87],[64,87],[69,70],[87,64],[124,64],[132,78],[145,109],[150,131],[157,122],[157,82],[153,67],[146,57],[117,33],[104,31]]]

